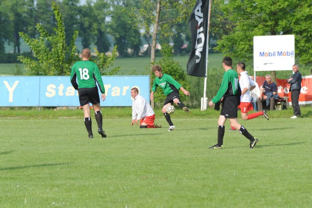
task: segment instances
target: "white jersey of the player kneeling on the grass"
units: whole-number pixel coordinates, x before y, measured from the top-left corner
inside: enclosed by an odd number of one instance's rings
[[[132,102],[132,119],[140,120],[154,114],[150,103],[143,96],[137,94]]]

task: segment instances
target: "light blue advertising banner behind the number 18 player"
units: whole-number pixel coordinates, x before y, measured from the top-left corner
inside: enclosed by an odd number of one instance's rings
[[[131,88],[150,99],[149,76],[102,76],[101,106],[132,106]],[[0,76],[0,106],[79,106],[69,76]]]

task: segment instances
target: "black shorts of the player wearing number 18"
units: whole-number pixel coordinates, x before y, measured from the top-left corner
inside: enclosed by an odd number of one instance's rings
[[[80,106],[84,106],[89,103],[92,104],[99,103],[98,87],[79,88],[78,95]]]

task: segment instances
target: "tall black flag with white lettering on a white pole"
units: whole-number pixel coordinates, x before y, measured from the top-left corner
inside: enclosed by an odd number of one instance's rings
[[[187,62],[187,74],[205,77],[209,0],[197,0],[189,19],[192,52]]]

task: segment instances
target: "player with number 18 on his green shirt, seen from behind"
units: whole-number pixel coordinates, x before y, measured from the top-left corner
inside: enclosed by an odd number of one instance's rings
[[[103,80],[98,70],[97,64],[89,61],[89,58],[91,57],[90,49],[83,49],[81,52],[81,56],[82,60],[76,62],[72,67],[70,81],[73,87],[78,90],[79,103],[83,109],[84,124],[86,126],[87,132],[89,133],[89,138],[93,138],[89,103],[92,103],[93,110],[96,114],[95,117],[98,123],[98,133],[104,138],[106,137],[106,134],[102,129],[103,117],[100,111],[100,99],[98,95],[99,88],[102,93],[101,99],[102,101],[105,100],[105,89]],[[98,87],[96,83],[98,83]]]

